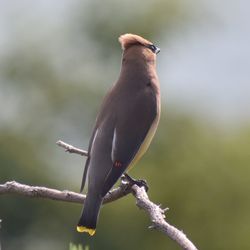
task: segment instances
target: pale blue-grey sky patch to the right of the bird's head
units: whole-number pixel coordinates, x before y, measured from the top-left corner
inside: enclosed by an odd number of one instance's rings
[[[249,121],[250,2],[203,2],[214,16],[211,24],[208,20],[188,32],[177,31],[164,48],[167,95],[182,108],[218,120]]]

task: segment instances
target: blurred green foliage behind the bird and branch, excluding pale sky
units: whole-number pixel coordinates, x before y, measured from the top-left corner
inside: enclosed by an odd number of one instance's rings
[[[68,44],[58,45],[73,48],[55,56],[44,53],[47,44],[18,44],[7,53],[0,62],[0,182],[78,191],[84,160],[57,149],[55,141],[87,147],[102,97],[119,71],[118,35],[135,32],[155,41],[190,13],[182,1],[89,1],[75,6],[65,28]],[[170,208],[167,220],[199,249],[250,249],[250,125],[225,132],[212,121],[167,110],[163,106],[157,135],[131,175],[148,181],[150,198]],[[132,196],[103,207],[91,238],[75,230],[80,211],[77,204],[1,196],[2,247],[56,250],[72,241],[90,249],[146,250],[156,242],[159,250],[179,249],[147,229],[149,219]]]

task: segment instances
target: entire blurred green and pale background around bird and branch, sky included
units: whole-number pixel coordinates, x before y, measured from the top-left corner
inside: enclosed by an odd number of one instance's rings
[[[250,249],[250,3],[247,0],[0,1],[0,183],[79,191],[103,96],[116,81],[117,41],[161,48],[162,116],[130,173],[199,249]],[[97,234],[78,234],[81,205],[0,197],[5,250],[179,249],[132,196],[103,207]],[[157,245],[156,245],[157,244]]]

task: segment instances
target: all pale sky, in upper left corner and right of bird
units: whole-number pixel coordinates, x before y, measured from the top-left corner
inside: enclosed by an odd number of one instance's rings
[[[36,37],[27,37],[42,40],[62,22],[67,24],[72,3],[77,1],[0,1],[0,56],[13,49],[13,24],[28,34],[29,22],[45,22],[48,29],[39,30]],[[200,13],[200,23],[184,30],[177,28],[166,44],[161,43],[158,68],[164,103],[205,117],[209,114],[219,123],[249,122],[250,2],[201,3],[208,13],[204,20]]]

